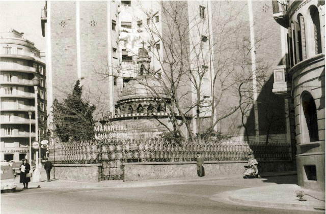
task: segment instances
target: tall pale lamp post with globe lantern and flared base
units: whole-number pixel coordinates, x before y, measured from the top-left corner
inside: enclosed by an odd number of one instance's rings
[[[34,90],[35,90],[35,140],[38,141],[38,104],[37,104],[37,87],[40,84],[39,78],[36,76],[32,79],[33,85],[34,85]],[[33,182],[40,182],[41,181],[41,174],[39,170],[39,152],[35,152],[35,172],[33,173]]]

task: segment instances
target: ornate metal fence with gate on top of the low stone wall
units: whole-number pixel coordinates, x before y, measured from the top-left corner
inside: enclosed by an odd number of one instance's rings
[[[101,163],[101,180],[123,179],[124,162],[196,161],[198,151],[205,161],[247,161],[254,152],[257,161],[291,160],[291,147],[284,143],[245,141],[183,142],[172,144],[160,138],[104,139],[56,143],[49,146],[49,158],[56,164]]]

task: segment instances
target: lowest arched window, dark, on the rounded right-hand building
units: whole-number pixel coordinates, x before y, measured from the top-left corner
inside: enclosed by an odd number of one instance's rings
[[[316,104],[310,93],[306,92],[302,96],[302,107],[309,132],[310,142],[318,141],[318,124]]]

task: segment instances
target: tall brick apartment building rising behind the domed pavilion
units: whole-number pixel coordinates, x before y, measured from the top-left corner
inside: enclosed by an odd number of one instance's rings
[[[142,70],[137,63],[140,48],[148,50],[152,73],[166,78],[169,39],[178,35],[171,32],[173,20],[165,13],[173,7],[178,8],[178,21],[185,26],[179,30],[182,39],[174,41],[175,47],[188,53],[184,69],[199,71],[182,80],[177,91],[183,109],[198,99],[202,102],[200,109],[187,112],[193,117],[191,131],[201,132],[198,123],[205,130],[212,115],[207,103],[213,102],[214,120],[218,120],[215,131],[238,140],[293,144],[295,134],[286,116],[293,104],[271,91],[272,67],[285,60],[278,56],[283,54],[282,46],[275,45],[283,33],[269,18],[273,4],[264,1],[48,2],[41,18],[48,47],[48,111],[53,99],[63,97],[64,88],[82,79],[90,92],[86,97],[101,106],[95,113],[99,120],[102,115],[119,114],[123,88]],[[240,77],[247,80],[242,90],[250,91],[241,105]],[[194,82],[200,81],[196,86]],[[201,95],[197,96],[199,85]],[[245,93],[241,102],[248,97]],[[198,111],[200,120],[195,116]]]

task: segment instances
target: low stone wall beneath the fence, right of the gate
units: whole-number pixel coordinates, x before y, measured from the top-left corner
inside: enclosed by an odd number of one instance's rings
[[[207,161],[205,176],[242,174],[247,161]],[[260,172],[293,171],[292,161],[266,161],[258,165]],[[124,163],[124,181],[197,177],[195,161]]]

